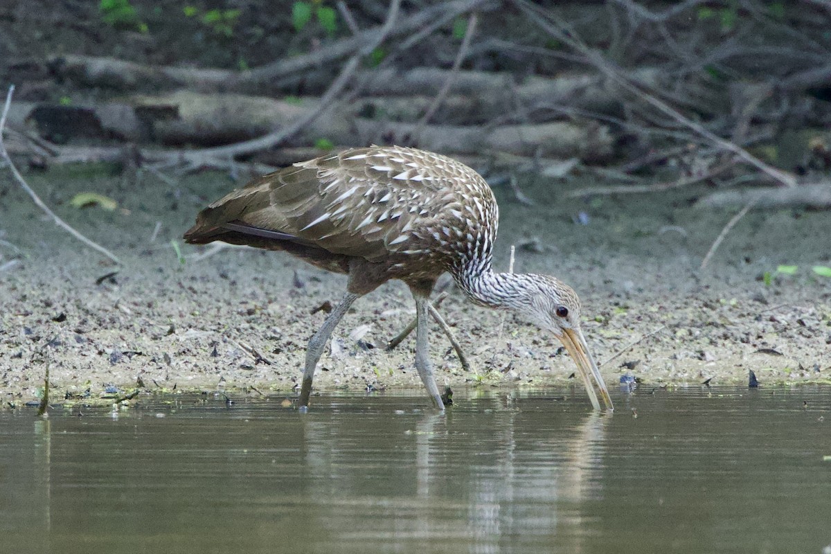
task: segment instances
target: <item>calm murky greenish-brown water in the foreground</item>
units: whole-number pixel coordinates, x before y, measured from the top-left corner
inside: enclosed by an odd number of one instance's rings
[[[819,552],[831,387],[0,411],[0,552]],[[170,400],[170,401],[167,401]],[[807,408],[804,401],[808,402]],[[637,409],[634,417],[632,409]]]

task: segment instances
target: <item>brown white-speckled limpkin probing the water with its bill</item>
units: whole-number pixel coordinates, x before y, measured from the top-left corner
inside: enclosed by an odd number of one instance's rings
[[[347,293],[308,343],[302,409],[317,361],[342,316],[356,298],[390,279],[405,282],[416,301],[416,370],[436,407],[444,409],[427,338],[428,315],[441,321],[429,297],[444,272],[479,305],[517,311],[553,332],[576,362],[594,408],[600,409],[596,384],[611,409],[580,329],[577,294],[548,275],[494,272],[498,221],[493,191],[465,164],[424,150],[372,146],[254,179],[204,208],[184,239],[283,250],[347,274]]]

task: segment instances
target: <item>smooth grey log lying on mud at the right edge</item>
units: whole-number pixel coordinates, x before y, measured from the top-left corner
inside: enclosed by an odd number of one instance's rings
[[[831,181],[795,187],[724,190],[696,202],[696,208],[831,208]]]

